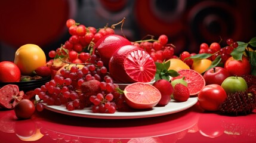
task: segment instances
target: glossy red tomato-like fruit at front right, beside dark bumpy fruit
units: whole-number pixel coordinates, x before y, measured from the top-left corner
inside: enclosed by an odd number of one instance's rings
[[[207,111],[217,111],[227,98],[226,91],[217,84],[206,85],[198,94],[200,106]]]

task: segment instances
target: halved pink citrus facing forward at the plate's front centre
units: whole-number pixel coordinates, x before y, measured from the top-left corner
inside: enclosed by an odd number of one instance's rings
[[[147,109],[155,107],[161,100],[161,92],[153,85],[143,82],[135,82],[124,89],[125,101],[135,109]]]

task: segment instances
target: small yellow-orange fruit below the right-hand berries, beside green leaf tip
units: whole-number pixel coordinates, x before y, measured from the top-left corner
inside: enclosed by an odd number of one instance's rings
[[[193,64],[191,69],[198,71],[198,73],[202,74],[205,72],[206,69],[208,69],[209,66],[211,66],[212,61],[209,59],[197,59],[193,60]]]

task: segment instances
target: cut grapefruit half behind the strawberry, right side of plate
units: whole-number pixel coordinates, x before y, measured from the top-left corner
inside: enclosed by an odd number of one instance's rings
[[[180,73],[180,76],[172,77],[172,81],[181,79],[184,76],[184,80],[187,82],[187,88],[189,88],[190,96],[197,95],[203,86],[205,86],[205,79],[203,79],[203,76],[195,70],[182,69],[178,70],[178,73]]]

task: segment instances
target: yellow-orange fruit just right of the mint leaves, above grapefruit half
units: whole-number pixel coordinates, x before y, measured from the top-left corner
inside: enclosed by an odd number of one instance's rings
[[[178,71],[178,70],[181,70],[181,69],[190,69],[190,67],[186,63],[184,63],[183,61],[181,61],[178,58],[171,58],[167,61],[170,61],[170,66],[169,66],[168,70]]]

